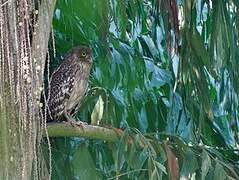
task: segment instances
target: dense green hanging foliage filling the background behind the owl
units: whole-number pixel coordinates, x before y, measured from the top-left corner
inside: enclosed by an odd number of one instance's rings
[[[117,144],[54,139],[52,178],[239,179],[238,10],[236,0],[57,1],[50,69],[89,45],[76,119],[90,123],[101,96],[100,125],[125,133]]]

